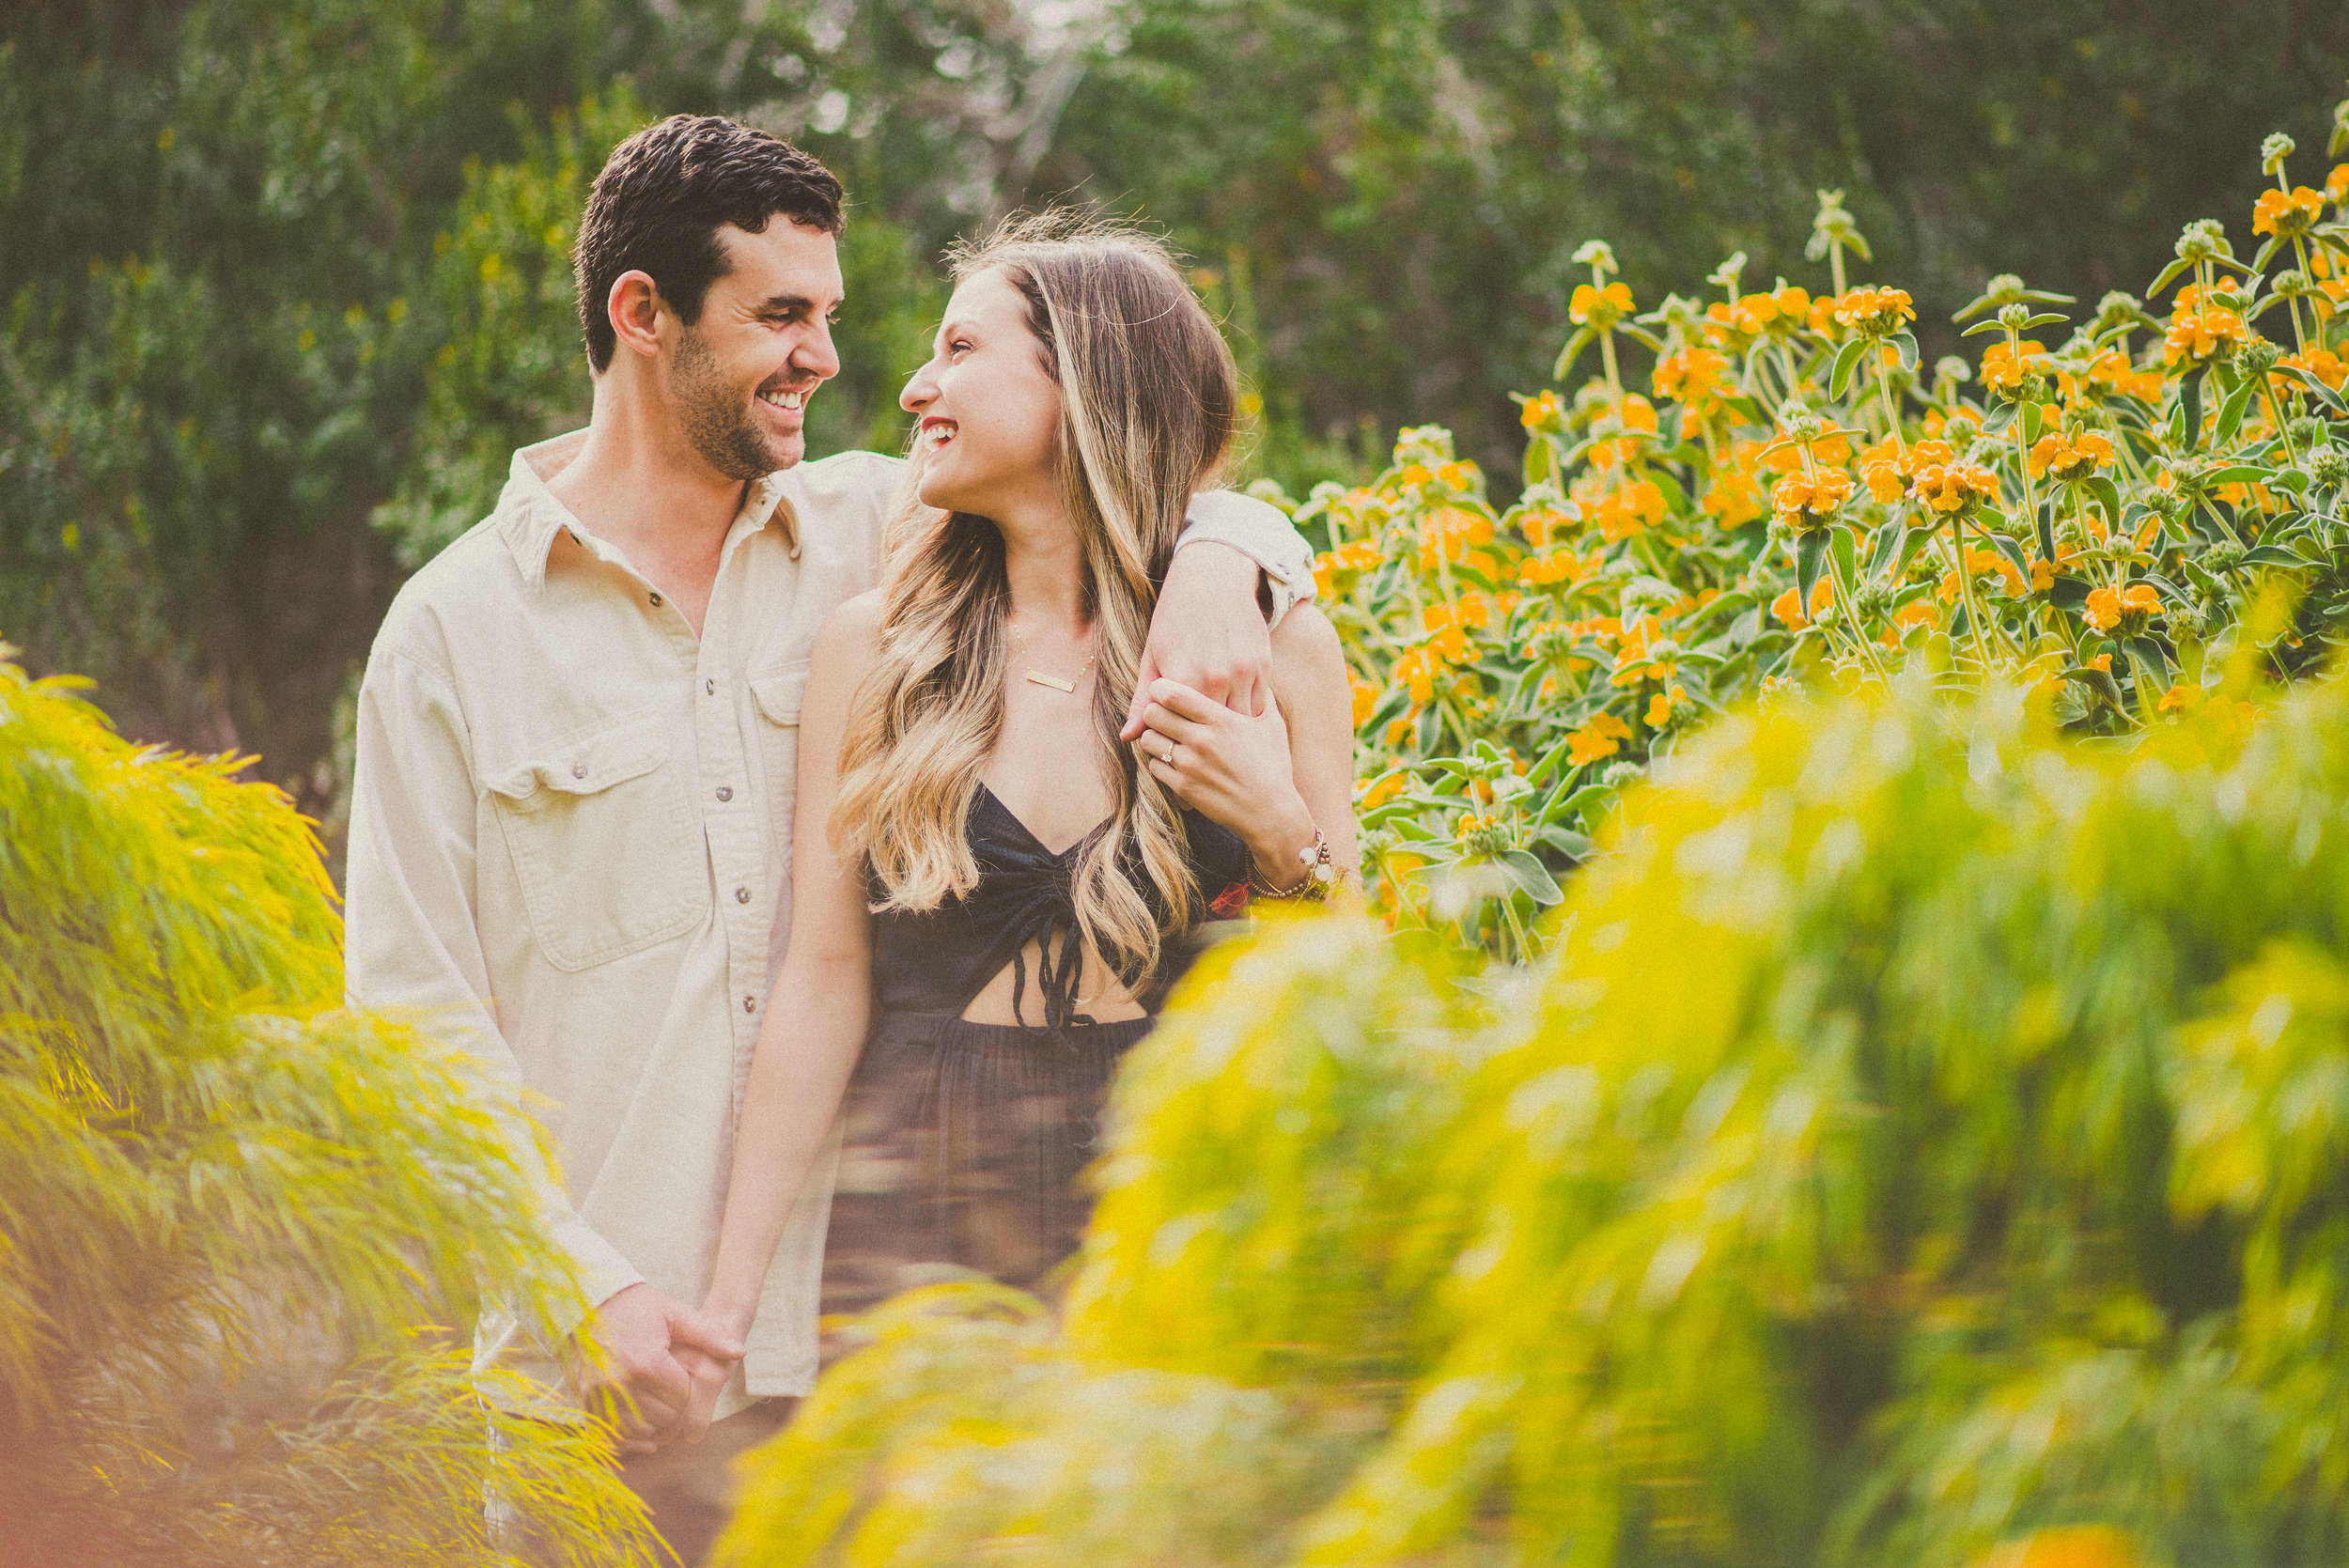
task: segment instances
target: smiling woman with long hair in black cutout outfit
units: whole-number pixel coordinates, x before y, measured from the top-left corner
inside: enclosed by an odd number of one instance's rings
[[[1076,1246],[1102,1094],[1193,930],[1250,883],[1358,864],[1346,669],[1311,606],[1273,634],[1261,718],[1158,681],[1118,742],[1236,418],[1231,352],[1167,254],[1045,216],[954,275],[902,399],[918,505],[808,671],[792,944],[707,1300],[740,1333],[853,1068],[900,1087],[879,1134],[911,1171],[900,1246],[1029,1284]]]

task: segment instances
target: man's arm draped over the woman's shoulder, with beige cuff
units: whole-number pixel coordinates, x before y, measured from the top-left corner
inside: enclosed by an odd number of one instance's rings
[[[1259,584],[1271,596],[1271,622],[1259,608]],[[1271,624],[1306,599],[1313,599],[1313,552],[1280,507],[1233,491],[1193,495],[1142,648],[1125,739],[1142,735],[1142,709],[1158,676],[1240,714],[1261,714],[1273,690]]]

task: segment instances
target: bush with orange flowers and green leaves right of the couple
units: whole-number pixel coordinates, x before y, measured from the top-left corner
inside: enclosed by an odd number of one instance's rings
[[[2253,261],[2187,228],[2152,284],[2166,317],[2109,293],[2048,350],[2069,300],[1994,277],[1959,312],[1994,333],[1980,366],[1931,378],[1910,296],[1846,284],[1867,242],[1842,192],[1820,192],[1816,298],[1741,289],[1731,256],[1722,298],[1635,315],[1611,251],[1576,251],[1557,378],[1593,345],[1602,373],[1522,399],[1517,505],[1423,427],[1369,486],[1294,507],[1327,530],[1374,904],[1527,955],[1616,786],[1778,681],[1921,667],[2138,732],[2208,699],[2262,570],[2300,601],[2257,653],[2316,669],[2349,634],[2349,164],[2314,190],[2290,153],[2262,150]]]

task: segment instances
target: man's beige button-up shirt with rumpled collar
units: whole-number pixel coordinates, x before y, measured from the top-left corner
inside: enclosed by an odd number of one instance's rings
[[[585,432],[514,453],[498,509],[416,573],[359,688],[348,988],[467,1038],[531,1091],[559,1169],[512,1148],[583,1298],[641,1282],[700,1303],[733,1122],[792,930],[792,798],[808,650],[879,582],[902,462],[841,453],[747,488],[700,636],[547,491]],[[1254,556],[1276,608],[1311,556],[1261,502],[1203,495],[1184,540]],[[787,1000],[778,1000],[782,1005]],[[803,1394],[832,1162],[775,1251],[719,1401]],[[578,1406],[512,1319],[482,1366]]]

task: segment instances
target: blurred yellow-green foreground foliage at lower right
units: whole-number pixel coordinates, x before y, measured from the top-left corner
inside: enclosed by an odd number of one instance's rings
[[[2333,1561],[2349,690],[1785,697],[1626,822],[1522,993],[1212,955],[1066,1326],[893,1305],[728,1561]]]

